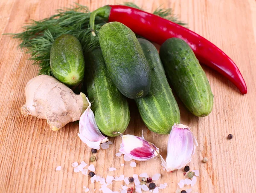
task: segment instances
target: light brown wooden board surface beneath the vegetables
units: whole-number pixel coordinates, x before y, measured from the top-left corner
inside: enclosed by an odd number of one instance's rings
[[[74,173],[71,164],[90,163],[90,148],[77,136],[77,124],[68,124],[61,131],[51,131],[46,120],[23,117],[20,106],[25,102],[24,87],[38,73],[38,66],[27,60],[28,55],[17,48],[17,40],[3,33],[22,31],[29,19],[40,20],[55,13],[55,9],[72,5],[74,0],[1,0],[0,1],[0,192],[70,192],[79,193],[83,186],[90,192],[100,184],[91,184],[88,176]],[[115,0],[75,0],[94,10]],[[116,1],[122,3],[122,0]],[[199,170],[192,192],[245,193],[256,190],[256,2],[255,0],[141,0],[136,1],[146,11],[160,5],[173,8],[189,28],[221,48],[238,65],[247,83],[248,94],[241,95],[225,77],[203,66],[214,94],[212,113],[204,118],[190,114],[179,100],[181,122],[192,128],[198,148],[189,166]],[[166,156],[167,135],[148,131],[130,102],[131,122],[125,134],[141,135],[154,142]],[[233,134],[232,140],[227,135]],[[160,159],[137,162],[131,167],[122,157],[116,157],[120,137],[111,138],[108,150],[99,150],[96,174],[131,176],[161,173],[157,184],[167,182],[160,193],[173,193],[183,171],[167,173]],[[209,162],[203,163],[203,157]],[[124,163],[124,167],[120,164]],[[55,171],[61,165],[61,171]],[[109,167],[116,167],[113,172]],[[112,190],[120,184],[113,182]],[[109,186],[111,187],[111,185]],[[184,189],[187,189],[186,187]]]

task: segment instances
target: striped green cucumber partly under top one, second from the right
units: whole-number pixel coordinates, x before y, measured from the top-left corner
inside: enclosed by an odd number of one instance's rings
[[[140,116],[150,131],[169,134],[175,123],[180,123],[180,110],[167,81],[155,46],[138,39],[151,69],[151,88],[147,96],[136,99]]]

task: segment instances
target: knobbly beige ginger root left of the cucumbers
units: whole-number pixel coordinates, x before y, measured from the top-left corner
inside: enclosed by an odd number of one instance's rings
[[[26,103],[21,107],[24,116],[47,119],[53,131],[77,121],[88,107],[83,93],[75,94],[57,79],[39,75],[29,80],[25,88]]]

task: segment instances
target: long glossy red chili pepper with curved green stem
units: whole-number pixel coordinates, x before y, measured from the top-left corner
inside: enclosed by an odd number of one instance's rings
[[[178,37],[186,41],[199,62],[227,77],[236,85],[241,94],[247,93],[246,84],[236,64],[221,49],[195,32],[139,9],[128,6],[104,6],[91,14],[90,25],[94,36],[94,19],[96,15],[109,22],[117,21],[123,23],[131,28],[134,33],[160,45],[172,37]]]

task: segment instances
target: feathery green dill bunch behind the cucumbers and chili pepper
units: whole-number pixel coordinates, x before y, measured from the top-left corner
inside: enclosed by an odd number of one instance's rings
[[[124,3],[126,6],[131,6],[140,9],[134,3]],[[175,23],[184,25],[177,17],[172,14],[172,9],[160,9],[154,11],[155,15],[172,20]],[[84,52],[90,51],[99,47],[98,36],[91,35],[90,26],[90,11],[87,6],[82,6],[76,3],[72,8],[58,9],[57,13],[44,20],[35,21],[24,26],[24,31],[18,34],[10,34],[13,38],[21,40],[20,48],[31,57],[33,64],[39,65],[38,74],[47,74],[52,76],[50,69],[50,51],[52,43],[61,34],[71,34],[77,37],[83,47]],[[106,22],[100,17],[95,19],[95,32],[99,33],[99,29]]]

